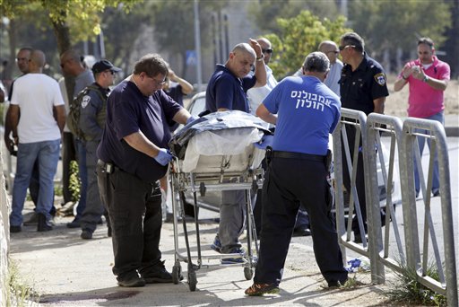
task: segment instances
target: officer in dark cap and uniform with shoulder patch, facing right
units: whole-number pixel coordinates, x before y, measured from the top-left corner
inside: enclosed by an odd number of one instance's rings
[[[96,79],[95,83],[87,86],[79,94],[82,97],[80,105],[79,129],[81,132],[82,145],[86,152],[86,171],[88,173],[88,189],[86,195],[86,207],[82,213],[80,225],[82,239],[92,239],[92,233],[96,230],[100,217],[104,213],[104,206],[100,201],[99,187],[97,185],[96,163],[97,146],[100,144],[102,132],[105,127],[107,98],[110,92],[108,86],[113,85],[115,75],[121,71],[108,60],[96,62],[92,68]],[[82,96],[80,96],[82,95]],[[111,227],[108,215],[108,236],[111,236]]]

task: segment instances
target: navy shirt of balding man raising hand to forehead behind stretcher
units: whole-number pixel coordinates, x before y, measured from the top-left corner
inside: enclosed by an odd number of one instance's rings
[[[205,110],[216,112],[225,108],[249,112],[247,91],[255,83],[255,75],[247,75],[241,79],[233,75],[227,67],[217,64],[205,92]]]

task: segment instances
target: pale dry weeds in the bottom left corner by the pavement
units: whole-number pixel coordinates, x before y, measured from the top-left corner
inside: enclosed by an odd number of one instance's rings
[[[13,259],[8,261],[8,276],[6,282],[9,291],[6,295],[6,306],[39,306],[39,294],[27,285],[19,274],[19,269]]]

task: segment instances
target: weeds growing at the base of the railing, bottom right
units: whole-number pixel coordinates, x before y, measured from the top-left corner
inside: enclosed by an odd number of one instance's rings
[[[416,279],[414,269],[407,268],[406,265],[399,263],[401,272],[394,271],[396,280],[393,287],[387,293],[389,299],[399,303],[420,304],[424,306],[447,306],[446,296],[437,294],[425,285],[420,284]],[[437,266],[429,263],[427,276],[439,280]]]

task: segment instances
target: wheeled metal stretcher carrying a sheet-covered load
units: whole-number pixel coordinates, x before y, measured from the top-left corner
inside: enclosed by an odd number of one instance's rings
[[[259,125],[260,124],[260,125]],[[189,131],[191,130],[191,131]],[[250,114],[228,111],[218,112],[200,118],[191,127],[186,126],[173,137],[169,146],[176,158],[170,164],[172,213],[174,223],[175,263],[172,269],[173,281],[178,284],[181,276],[180,262],[187,263],[187,283],[195,291],[196,271],[204,266],[212,267],[211,259],[241,258],[240,266],[244,276],[251,279],[254,273],[258,246],[253,215],[253,191],[263,185],[261,161],[264,150],[255,146],[264,135],[263,123]],[[204,196],[207,191],[244,190],[247,212],[247,252],[241,254],[203,255],[199,230],[199,209],[197,193]],[[195,210],[195,252],[192,253],[185,216],[185,192],[191,192]],[[256,193],[255,193],[256,195]],[[186,254],[180,252],[178,216],[183,224]],[[183,242],[183,241],[182,241]],[[255,243],[255,250],[252,244]],[[183,248],[182,248],[183,250]],[[214,261],[216,262],[216,261]]]

